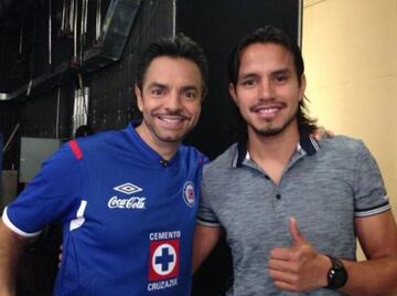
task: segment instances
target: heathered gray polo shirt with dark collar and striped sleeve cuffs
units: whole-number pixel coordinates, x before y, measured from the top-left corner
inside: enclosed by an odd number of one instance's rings
[[[288,218],[323,254],[355,260],[355,216],[389,210],[375,159],[361,140],[302,136],[279,184],[234,144],[204,168],[197,223],[222,226],[232,249],[234,285],[227,295],[339,295],[279,290],[268,275],[276,246],[290,246]]]

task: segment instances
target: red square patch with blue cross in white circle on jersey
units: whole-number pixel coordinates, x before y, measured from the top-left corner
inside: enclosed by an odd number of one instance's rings
[[[179,254],[179,239],[150,242],[149,282],[178,277]]]

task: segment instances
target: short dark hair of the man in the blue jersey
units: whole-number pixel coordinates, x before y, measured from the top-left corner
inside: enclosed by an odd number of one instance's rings
[[[162,38],[153,42],[143,52],[137,70],[137,85],[142,89],[144,75],[150,63],[159,56],[181,57],[195,63],[202,76],[203,95],[208,85],[208,65],[203,49],[191,38],[179,33],[172,38]]]

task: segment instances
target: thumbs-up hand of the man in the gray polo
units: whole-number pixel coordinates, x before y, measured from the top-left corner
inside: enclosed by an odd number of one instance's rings
[[[280,289],[309,292],[326,286],[330,260],[310,244],[300,232],[294,218],[289,220],[292,245],[275,247],[270,252],[269,275]]]

